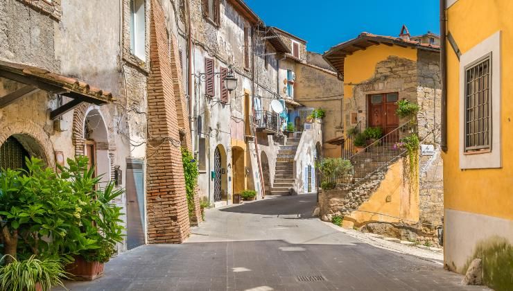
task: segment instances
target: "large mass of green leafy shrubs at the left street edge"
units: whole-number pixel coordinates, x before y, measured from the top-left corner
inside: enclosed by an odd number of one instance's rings
[[[101,188],[87,157],[67,163],[61,173],[36,158],[26,160],[27,170],[2,170],[0,252],[10,255],[6,263],[18,255],[71,262],[73,256],[104,253],[106,244],[114,248],[123,240],[123,213],[112,203],[123,189],[114,189],[114,182]]]

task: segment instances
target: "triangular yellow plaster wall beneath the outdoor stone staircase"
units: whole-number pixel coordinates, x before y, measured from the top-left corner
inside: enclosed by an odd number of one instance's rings
[[[390,198],[389,202],[387,202],[387,197]],[[381,181],[379,188],[372,193],[369,200],[360,205],[358,211],[353,211],[351,215],[345,216],[342,226],[360,227],[363,224],[376,221],[406,223],[419,221],[419,191],[417,188],[414,193],[410,193],[409,184],[404,182],[403,159],[399,159],[390,166],[390,170],[385,175],[385,179]]]

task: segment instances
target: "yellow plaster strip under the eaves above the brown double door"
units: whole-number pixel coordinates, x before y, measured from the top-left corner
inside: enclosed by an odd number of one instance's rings
[[[390,55],[417,61],[417,49],[385,44],[369,46],[365,51],[356,51],[352,55],[347,55],[344,62],[345,98],[353,97],[354,86],[348,85],[349,83],[358,84],[372,78],[376,64],[386,60]]]

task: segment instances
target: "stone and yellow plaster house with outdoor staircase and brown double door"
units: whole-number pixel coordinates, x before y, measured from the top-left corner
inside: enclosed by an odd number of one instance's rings
[[[443,215],[440,48],[406,38],[405,28],[401,37],[361,33],[324,54],[344,80],[341,154],[354,173],[340,191],[324,193],[321,210],[346,215],[348,226],[437,243],[435,227]],[[399,100],[419,111],[399,118]],[[357,152],[354,134],[367,127],[378,127],[383,137]],[[410,132],[417,132],[422,150],[418,165],[408,169],[406,150],[396,144]]]

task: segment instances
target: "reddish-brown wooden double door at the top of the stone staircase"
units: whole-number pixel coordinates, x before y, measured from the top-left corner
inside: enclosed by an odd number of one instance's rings
[[[369,96],[369,127],[381,127],[383,134],[389,134],[399,126],[397,116],[399,94],[372,94]],[[398,135],[399,136],[399,135]]]

